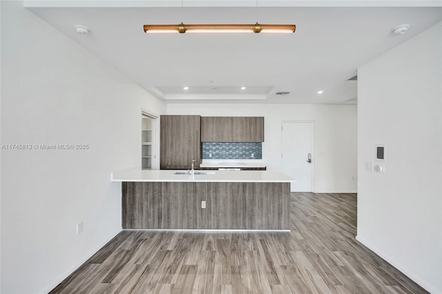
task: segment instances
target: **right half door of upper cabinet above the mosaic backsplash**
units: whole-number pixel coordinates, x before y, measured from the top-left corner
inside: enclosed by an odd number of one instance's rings
[[[233,117],[233,142],[263,142],[264,117]]]

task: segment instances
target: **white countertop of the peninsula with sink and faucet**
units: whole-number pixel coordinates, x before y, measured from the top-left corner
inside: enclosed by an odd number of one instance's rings
[[[186,170],[141,170],[140,166],[111,174],[112,182],[296,182],[288,175],[269,170],[215,170],[211,175],[173,175]],[[207,170],[197,170],[207,172]]]

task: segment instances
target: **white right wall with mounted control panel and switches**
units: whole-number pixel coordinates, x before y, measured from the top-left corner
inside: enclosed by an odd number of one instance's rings
[[[442,23],[358,69],[357,239],[442,293]],[[365,171],[386,145],[385,174]]]

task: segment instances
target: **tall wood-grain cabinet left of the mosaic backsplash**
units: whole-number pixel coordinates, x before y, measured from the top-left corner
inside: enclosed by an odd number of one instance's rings
[[[160,168],[188,169],[201,163],[200,115],[162,115],[160,117]]]

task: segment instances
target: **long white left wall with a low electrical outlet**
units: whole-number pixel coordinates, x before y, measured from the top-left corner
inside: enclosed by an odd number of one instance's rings
[[[21,1],[1,1],[1,293],[47,293],[121,230],[111,172],[140,164],[140,117],[165,106]],[[75,225],[84,224],[76,235]]]

